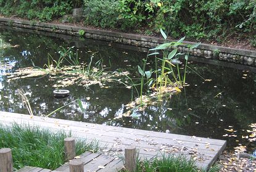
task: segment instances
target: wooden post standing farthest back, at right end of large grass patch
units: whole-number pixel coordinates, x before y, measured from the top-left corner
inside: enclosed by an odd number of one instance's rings
[[[75,157],[75,139],[67,137],[64,139],[65,160],[69,161]]]

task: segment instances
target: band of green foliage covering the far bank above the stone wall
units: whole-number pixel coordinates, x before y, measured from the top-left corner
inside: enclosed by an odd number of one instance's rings
[[[256,47],[256,1],[252,0],[0,0],[0,14],[51,21],[83,7],[85,26],[130,30],[197,41],[250,40]]]

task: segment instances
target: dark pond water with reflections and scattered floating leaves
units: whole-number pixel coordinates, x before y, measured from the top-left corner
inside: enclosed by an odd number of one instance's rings
[[[12,46],[12,47],[9,47]],[[85,121],[112,126],[147,129],[153,131],[186,134],[228,140],[228,147],[239,144],[255,149],[255,142],[242,136],[249,136],[249,125],[256,123],[256,75],[248,69],[237,69],[191,61],[187,83],[190,85],[171,99],[139,112],[139,118],[114,120],[126,112],[125,104],[131,101],[131,90],[120,84],[110,83],[107,88],[93,85],[68,86],[71,96],[54,99],[52,87],[55,81],[49,77],[27,78],[7,81],[4,73],[12,73],[18,68],[31,67],[35,63],[43,67],[47,54],[54,59],[60,46],[75,46],[81,61],[88,62],[91,53],[103,59],[110,70],[123,69],[136,73],[146,52],[138,47],[126,47],[114,43],[78,38],[56,38],[36,33],[0,28],[0,110],[28,114],[22,105],[17,89],[22,88],[35,115],[46,115],[59,107],[80,99],[84,112],[73,103],[51,115],[52,118]],[[207,80],[205,81],[200,76]],[[88,99],[90,97],[90,99]],[[229,131],[225,130],[228,129]],[[234,133],[230,132],[233,129]],[[228,136],[226,135],[228,134]],[[224,136],[223,136],[224,135]]]

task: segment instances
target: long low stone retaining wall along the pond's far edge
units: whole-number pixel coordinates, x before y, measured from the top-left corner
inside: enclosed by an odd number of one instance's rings
[[[0,17],[0,25],[9,25],[12,27],[28,28],[32,30],[50,31],[55,33],[62,33],[67,35],[80,36],[79,30],[84,30],[85,38],[100,39],[105,41],[112,41],[115,43],[129,44],[133,46],[140,46],[152,48],[164,43],[164,39],[152,36],[141,36],[135,34],[121,33],[118,31],[95,30],[85,27],[75,27],[71,25],[52,24],[43,22],[30,22],[28,20],[18,20],[11,18]],[[168,41],[175,41],[168,39]],[[195,44],[189,41],[184,41],[185,44]],[[188,52],[186,46],[179,46],[179,52]],[[221,46],[212,46],[210,44],[200,44],[197,48],[192,49],[189,54],[204,59],[222,60],[226,62],[241,63],[256,67],[256,51],[249,51],[246,49],[233,49]]]

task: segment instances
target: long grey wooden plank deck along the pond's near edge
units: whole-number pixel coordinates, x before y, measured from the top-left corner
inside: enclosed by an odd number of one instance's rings
[[[82,123],[55,118],[33,117],[19,113],[0,112],[0,123],[30,124],[52,131],[72,131],[72,136],[98,141],[106,154],[123,154],[125,147],[135,145],[141,158],[160,156],[163,153],[181,154],[196,160],[199,168],[207,168],[217,160],[226,147],[226,141],[196,136],[159,133],[141,129]]]

